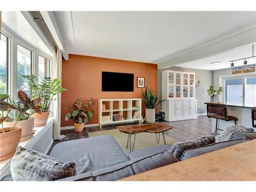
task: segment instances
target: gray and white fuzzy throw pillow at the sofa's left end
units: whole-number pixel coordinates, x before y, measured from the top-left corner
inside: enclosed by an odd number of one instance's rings
[[[18,146],[11,161],[14,181],[54,181],[76,175],[75,163]]]

